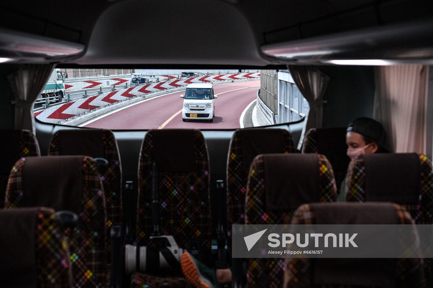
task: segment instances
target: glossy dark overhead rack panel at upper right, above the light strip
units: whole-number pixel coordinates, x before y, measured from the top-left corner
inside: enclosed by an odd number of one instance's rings
[[[332,61],[369,59],[397,64],[433,59],[431,43],[433,21],[428,19],[263,45],[261,49],[268,56],[288,63],[337,64]]]

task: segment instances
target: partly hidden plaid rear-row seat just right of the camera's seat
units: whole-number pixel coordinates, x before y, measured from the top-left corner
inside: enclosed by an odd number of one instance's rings
[[[227,160],[227,246],[232,247],[232,224],[243,224],[249,166],[255,156],[294,153],[290,133],[284,129],[239,129],[233,134]]]

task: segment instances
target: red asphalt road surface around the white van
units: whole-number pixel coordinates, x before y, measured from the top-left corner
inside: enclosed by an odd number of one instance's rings
[[[122,129],[236,129],[240,128],[239,118],[242,111],[257,97],[260,80],[214,85],[218,96],[215,99],[215,117],[213,123],[207,120],[188,120],[182,122],[182,112],[174,116],[183,107],[180,98],[185,91],[175,92],[122,109],[100,118],[84,127]],[[232,91],[233,90],[233,91]],[[221,95],[220,95],[221,94]]]

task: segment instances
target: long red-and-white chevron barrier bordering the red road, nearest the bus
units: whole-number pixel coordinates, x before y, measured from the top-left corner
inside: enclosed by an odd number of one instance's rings
[[[35,117],[46,123],[58,123],[62,120],[69,119],[84,112],[107,106],[128,98],[143,96],[148,93],[160,92],[181,86],[187,86],[192,83],[207,83],[226,80],[248,80],[259,78],[260,72],[256,73],[235,73],[235,74],[216,74],[198,77],[189,77],[150,83],[140,86],[132,86],[113,92],[107,92],[100,95],[90,96],[84,99],[78,99],[62,105],[48,107],[45,110],[35,112]]]

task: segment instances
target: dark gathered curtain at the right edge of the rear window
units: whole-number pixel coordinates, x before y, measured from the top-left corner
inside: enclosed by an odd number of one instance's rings
[[[305,119],[306,124],[304,124],[301,139],[299,139],[298,143],[298,149],[301,150],[305,131],[308,131],[310,128],[322,127],[323,96],[325,95],[330,78],[313,66],[288,65],[288,69],[299,91],[301,91],[310,104],[310,112],[308,112]]]

